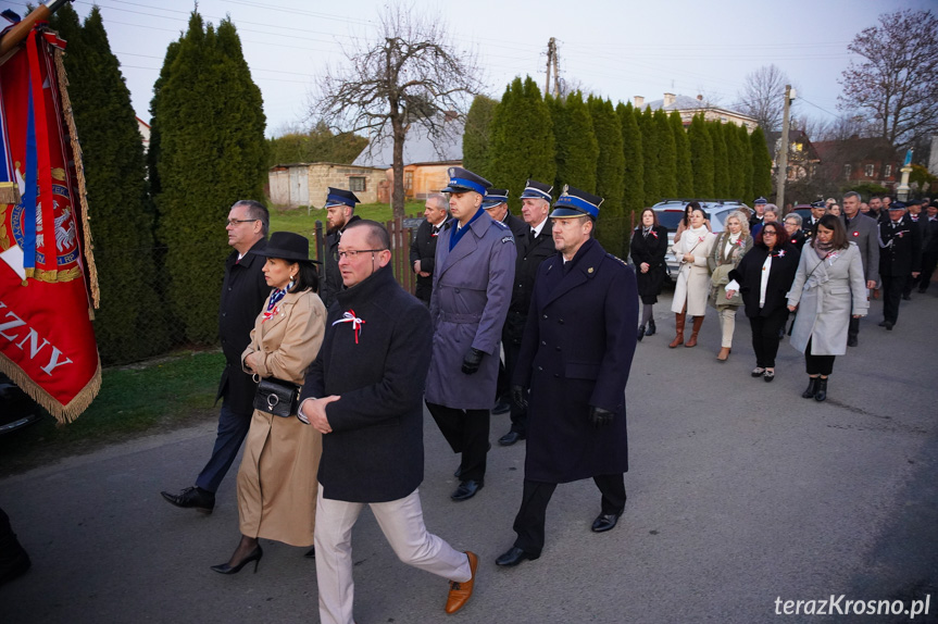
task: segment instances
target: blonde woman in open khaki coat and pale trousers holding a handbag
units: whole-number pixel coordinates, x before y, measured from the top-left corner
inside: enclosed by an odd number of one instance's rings
[[[749,236],[749,220],[741,211],[736,211],[726,217],[726,229],[716,237],[713,251],[706,258],[710,266],[710,304],[720,315],[722,339],[716,359],[725,362],[733,350],[733,332],[736,329],[736,311],[742,305],[742,298],[736,292],[727,296],[726,285],[729,283],[729,272],[739,265],[746,252],[752,249],[752,237]]]

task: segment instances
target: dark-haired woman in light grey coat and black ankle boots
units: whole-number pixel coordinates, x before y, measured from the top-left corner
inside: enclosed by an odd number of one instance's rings
[[[791,346],[804,353],[808,370],[801,396],[823,401],[834,358],[847,353],[850,317],[865,316],[870,309],[860,248],[847,238],[839,216],[822,216],[817,234],[803,248],[788,294],[788,310],[796,309]]]

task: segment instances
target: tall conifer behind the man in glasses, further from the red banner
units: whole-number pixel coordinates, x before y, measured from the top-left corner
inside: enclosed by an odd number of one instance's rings
[[[160,141],[155,200],[168,301],[187,339],[212,342],[230,252],[225,217],[239,199],[264,200],[261,91],[234,24],[223,20],[216,32],[197,12],[167,50],[158,86],[151,103]]]

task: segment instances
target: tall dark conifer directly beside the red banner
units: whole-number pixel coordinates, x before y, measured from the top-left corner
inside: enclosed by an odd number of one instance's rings
[[[98,7],[83,26],[66,3],[51,26],[68,41],[68,96],[82,141],[101,289],[98,350],[105,364],[140,360],[170,342],[158,296],[142,137]]]

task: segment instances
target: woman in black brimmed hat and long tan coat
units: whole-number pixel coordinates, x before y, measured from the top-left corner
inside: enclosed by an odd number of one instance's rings
[[[325,305],[315,294],[318,278],[309,246],[299,234],[277,232],[266,248],[251,252],[266,257],[264,277],[273,290],[241,354],[247,373],[303,385],[323,342],[326,320]],[[212,570],[235,574],[253,561],[257,572],[263,556],[261,537],[312,546],[322,448],[322,434],[296,414],[280,417],[254,410],[238,471],[241,541],[227,563]]]

